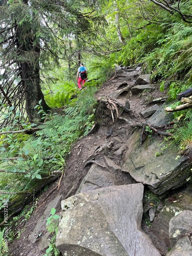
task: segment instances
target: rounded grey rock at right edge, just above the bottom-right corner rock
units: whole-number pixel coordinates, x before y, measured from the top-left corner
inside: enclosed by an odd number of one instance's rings
[[[170,246],[173,247],[181,237],[185,236],[186,233],[192,234],[192,211],[191,210],[184,210],[179,215],[170,219],[170,222],[169,222]]]

